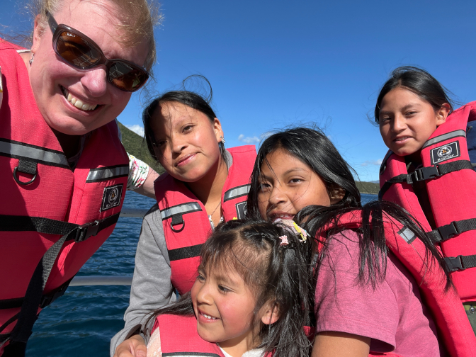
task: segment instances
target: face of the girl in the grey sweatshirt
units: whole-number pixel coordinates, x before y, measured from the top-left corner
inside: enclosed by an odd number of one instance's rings
[[[156,156],[175,179],[196,182],[220,160],[220,121],[177,102],[161,103],[150,120]]]

